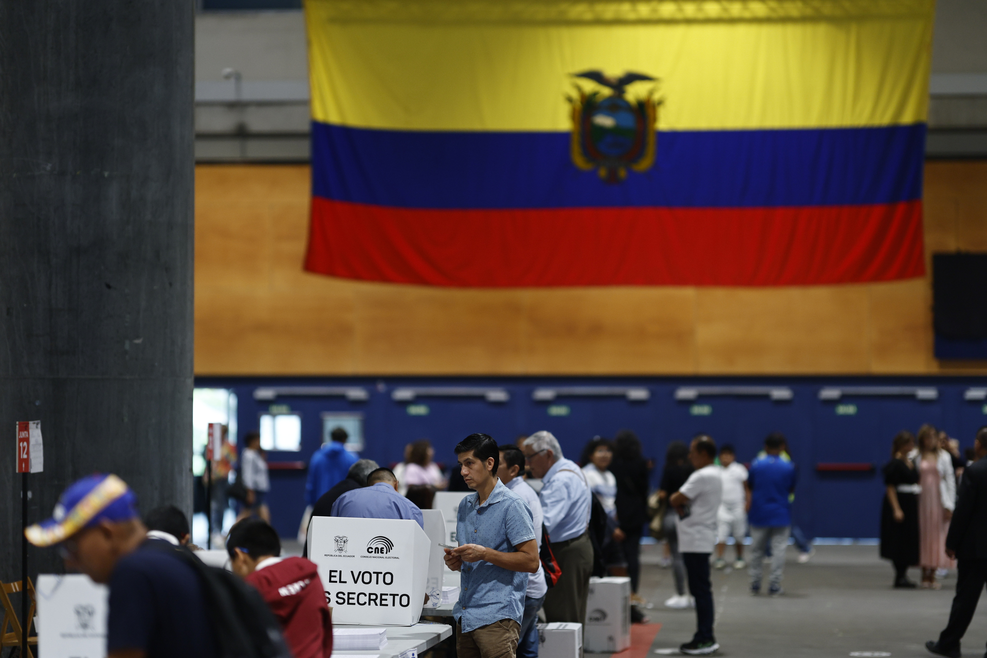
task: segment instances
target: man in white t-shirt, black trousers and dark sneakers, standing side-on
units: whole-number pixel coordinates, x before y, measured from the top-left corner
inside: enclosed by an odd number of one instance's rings
[[[720,648],[713,635],[713,587],[710,584],[710,554],[717,544],[717,512],[723,493],[721,468],[715,464],[717,444],[705,434],[692,440],[689,461],[695,469],[668,503],[679,515],[679,551],[689,578],[689,591],[696,599],[696,634],[679,647],[691,656],[713,653]]]

